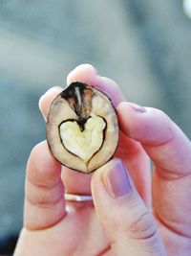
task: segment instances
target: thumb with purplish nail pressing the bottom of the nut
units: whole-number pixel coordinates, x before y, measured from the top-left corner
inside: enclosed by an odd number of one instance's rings
[[[119,159],[92,179],[96,213],[117,256],[164,256],[156,222]]]

